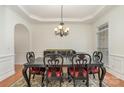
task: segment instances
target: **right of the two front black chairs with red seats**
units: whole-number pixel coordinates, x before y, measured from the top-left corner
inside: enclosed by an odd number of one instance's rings
[[[72,57],[72,66],[69,67],[69,74],[73,79],[74,86],[75,80],[86,81],[86,86],[89,86],[89,76],[87,64],[91,63],[91,56],[89,54],[75,54]]]

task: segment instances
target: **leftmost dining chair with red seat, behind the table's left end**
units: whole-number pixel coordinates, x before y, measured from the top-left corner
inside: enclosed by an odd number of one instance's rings
[[[26,59],[28,63],[35,62],[34,52],[27,52]],[[42,83],[44,80],[45,67],[30,67],[29,68],[29,81],[31,80],[31,75],[33,74],[33,79],[35,75],[42,75]]]

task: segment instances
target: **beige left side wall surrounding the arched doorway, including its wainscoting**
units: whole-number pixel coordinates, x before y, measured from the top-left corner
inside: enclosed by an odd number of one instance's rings
[[[16,24],[30,24],[9,6],[0,6],[0,81],[15,73],[14,32]]]

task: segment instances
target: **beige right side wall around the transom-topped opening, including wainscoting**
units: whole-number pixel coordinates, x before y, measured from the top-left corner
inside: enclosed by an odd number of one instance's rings
[[[95,31],[106,22],[109,24],[109,65],[106,69],[124,80],[124,6],[116,6],[98,18],[94,23]]]

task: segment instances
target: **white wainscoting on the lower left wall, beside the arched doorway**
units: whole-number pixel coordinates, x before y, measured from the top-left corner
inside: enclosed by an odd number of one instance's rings
[[[14,55],[0,56],[0,81],[15,73]]]

